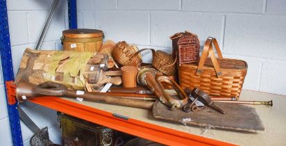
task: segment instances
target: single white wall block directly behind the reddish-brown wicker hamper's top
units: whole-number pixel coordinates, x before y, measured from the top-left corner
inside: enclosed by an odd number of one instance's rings
[[[210,25],[211,22],[211,25]],[[221,40],[224,17],[220,14],[153,12],[151,13],[151,45],[171,47],[171,35],[179,31],[196,33],[201,46],[208,36]]]

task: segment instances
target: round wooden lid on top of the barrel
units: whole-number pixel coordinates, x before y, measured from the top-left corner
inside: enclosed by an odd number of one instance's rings
[[[96,38],[103,35],[103,31],[97,29],[69,29],[62,31],[68,38]]]

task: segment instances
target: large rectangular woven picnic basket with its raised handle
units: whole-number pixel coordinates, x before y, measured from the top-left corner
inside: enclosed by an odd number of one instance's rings
[[[212,43],[218,58],[212,49]],[[210,58],[207,56],[210,55]],[[217,40],[208,38],[199,63],[180,65],[178,77],[182,88],[198,87],[212,96],[239,97],[247,72],[244,60],[223,58]]]

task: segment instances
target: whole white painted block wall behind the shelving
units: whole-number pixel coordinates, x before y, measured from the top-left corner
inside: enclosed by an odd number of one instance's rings
[[[9,0],[8,19],[14,72],[26,47],[34,47],[51,6],[51,0]],[[170,35],[189,30],[199,35],[201,46],[208,36],[219,40],[223,55],[249,64],[244,89],[286,95],[285,0],[81,0],[78,27],[102,29],[105,39],[126,40],[140,49],[152,47],[171,52]],[[60,1],[43,47],[62,49],[60,36],[68,29],[67,1]],[[144,61],[151,60],[145,53]],[[0,90],[3,83],[0,79]],[[1,96],[3,98],[3,95]],[[5,101],[5,100],[4,100]],[[12,145],[1,99],[0,141]],[[53,141],[60,143],[56,112],[42,106],[22,105],[40,127],[49,126]],[[36,110],[33,110],[36,109]],[[42,114],[48,114],[42,117]],[[32,114],[31,114],[32,115]],[[31,131],[23,126],[24,144]],[[3,143],[2,143],[3,141]]]

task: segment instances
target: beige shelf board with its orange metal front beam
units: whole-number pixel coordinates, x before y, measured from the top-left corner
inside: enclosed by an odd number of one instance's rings
[[[274,101],[274,106],[253,106],[262,120],[264,131],[244,133],[185,126],[157,120],[151,111],[76,99],[37,97],[35,104],[101,124],[118,131],[165,145],[286,145],[286,96],[243,90],[240,100]]]

